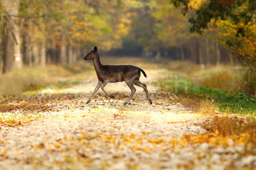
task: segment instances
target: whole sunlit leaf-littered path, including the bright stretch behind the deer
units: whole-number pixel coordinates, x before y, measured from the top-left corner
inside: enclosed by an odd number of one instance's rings
[[[130,103],[123,105],[130,94],[125,83],[105,87],[115,98],[100,89],[86,104],[97,84],[93,69],[70,78],[47,78],[50,83],[64,82],[66,88],[49,86],[4,99],[0,102],[0,170],[256,169],[252,116],[228,109],[222,113],[208,99],[191,101],[196,98],[161,91],[160,80],[176,73],[151,67],[145,69],[148,78],[140,80],[147,82],[152,105],[139,87]],[[199,70],[196,77],[202,79],[203,73],[210,75]],[[20,85],[5,82],[3,89],[9,91]]]

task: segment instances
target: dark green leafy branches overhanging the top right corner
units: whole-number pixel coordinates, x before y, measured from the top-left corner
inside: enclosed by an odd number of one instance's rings
[[[171,0],[174,6],[183,5],[183,15],[188,13],[188,7],[191,0]],[[189,22],[192,23],[191,32],[202,34],[202,29],[208,28],[208,23],[213,19],[227,20],[230,18],[234,24],[244,23],[247,25],[253,22],[253,14],[256,11],[256,1],[254,0],[210,0],[203,1],[199,9],[195,10],[196,18],[192,17]],[[237,28],[237,34],[244,35],[244,28]]]

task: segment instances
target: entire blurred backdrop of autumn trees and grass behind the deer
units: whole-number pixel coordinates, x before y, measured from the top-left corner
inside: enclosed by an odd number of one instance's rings
[[[137,65],[159,82],[179,75],[193,87],[255,96],[255,6],[238,20],[253,6],[238,1],[1,0],[0,95],[93,81],[82,59],[98,46],[103,64]]]

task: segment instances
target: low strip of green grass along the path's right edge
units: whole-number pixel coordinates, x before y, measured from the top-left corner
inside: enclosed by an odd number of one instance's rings
[[[184,79],[184,77],[183,77]],[[187,79],[185,79],[187,81]],[[191,82],[191,81],[187,81]],[[168,86],[175,89],[175,83],[168,83]],[[187,93],[185,93],[184,84],[178,85],[178,94],[188,100],[209,100],[213,101],[211,105],[218,108],[218,111],[225,113],[237,113],[242,115],[256,116],[256,98],[255,96],[247,96],[246,94],[237,92],[236,94],[230,94],[224,90],[218,90],[209,88],[209,86],[189,84],[187,87]],[[164,90],[165,88],[162,88]],[[173,91],[175,92],[175,90]],[[191,108],[197,108],[194,102],[190,102],[188,105]],[[199,106],[200,107],[200,106]]]

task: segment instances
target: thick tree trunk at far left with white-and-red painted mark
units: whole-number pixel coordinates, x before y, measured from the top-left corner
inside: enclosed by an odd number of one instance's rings
[[[2,5],[7,15],[17,15],[19,12],[20,0],[2,0]],[[3,73],[11,71],[12,68],[22,67],[19,28],[15,23],[14,18],[11,16],[8,16],[7,23],[9,27],[6,27],[6,32],[3,35]]]

